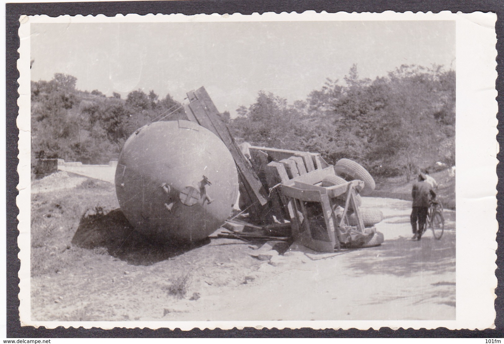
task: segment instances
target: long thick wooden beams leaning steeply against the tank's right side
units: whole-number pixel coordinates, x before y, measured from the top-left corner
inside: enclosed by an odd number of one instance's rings
[[[260,205],[267,204],[268,192],[234,141],[229,129],[222,122],[219,112],[205,88],[201,87],[196,91],[187,92],[187,97],[191,101],[188,107],[194,114],[194,119],[190,120],[196,120],[199,125],[216,134],[231,152],[238,168],[240,184],[243,184],[240,185],[240,193],[246,192],[248,197],[245,196],[244,198],[249,198],[251,202],[257,201]]]

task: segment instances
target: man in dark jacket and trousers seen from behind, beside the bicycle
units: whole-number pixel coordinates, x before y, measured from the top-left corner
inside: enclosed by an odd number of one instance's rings
[[[420,240],[427,219],[430,200],[436,197],[436,194],[432,191],[432,187],[425,182],[425,179],[426,176],[423,173],[419,174],[418,182],[413,184],[413,190],[411,191],[411,196],[413,197],[413,209],[410,217],[413,229],[412,240]]]

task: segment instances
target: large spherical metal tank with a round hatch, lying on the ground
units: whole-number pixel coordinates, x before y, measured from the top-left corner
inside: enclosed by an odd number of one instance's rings
[[[230,215],[238,186],[231,153],[188,121],[155,122],[124,143],[115,171],[122,212],[137,231],[165,242],[202,240]]]

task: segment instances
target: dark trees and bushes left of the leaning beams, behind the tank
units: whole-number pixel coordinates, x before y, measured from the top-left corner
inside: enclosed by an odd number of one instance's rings
[[[124,141],[138,128],[174,111],[180,103],[170,95],[159,100],[151,91],[118,93],[106,97],[75,88],[77,79],[55,74],[50,81],[31,83],[32,160],[62,158],[83,163],[107,163],[117,159]]]

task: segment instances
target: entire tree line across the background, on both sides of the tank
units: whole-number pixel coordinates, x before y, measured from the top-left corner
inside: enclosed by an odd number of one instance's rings
[[[135,90],[121,99],[76,83],[64,74],[32,82],[32,159],[107,163],[141,126],[184,117],[169,94]],[[305,100],[289,104],[260,91],[237,114],[222,117],[239,141],[320,152],[329,163],[350,158],[375,176],[410,180],[419,167],[455,164],[455,72],[439,66],[403,65],[370,80],[354,65],[344,80],[327,79]]]

